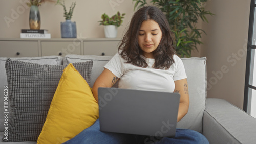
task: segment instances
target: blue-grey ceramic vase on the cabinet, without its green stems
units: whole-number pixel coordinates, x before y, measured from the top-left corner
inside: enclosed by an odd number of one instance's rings
[[[76,38],[76,22],[66,20],[60,22],[61,38]]]

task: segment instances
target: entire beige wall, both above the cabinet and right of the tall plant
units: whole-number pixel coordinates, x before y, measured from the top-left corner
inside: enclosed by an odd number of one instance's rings
[[[0,38],[19,38],[20,29],[29,29],[29,8],[25,0],[0,1]],[[67,8],[72,1],[66,0]],[[74,2],[74,1],[73,1]],[[116,6],[111,5],[117,4]],[[76,21],[79,38],[104,37],[103,26],[99,26],[104,12],[109,15],[117,11],[126,13],[123,26],[118,29],[122,37],[134,11],[132,0],[76,0],[72,21]],[[244,97],[244,79],[246,48],[249,21],[249,0],[209,0],[206,9],[215,13],[208,16],[209,23],[199,23],[207,35],[203,35],[204,45],[194,57],[207,57],[208,98],[223,98],[242,108]],[[39,7],[41,29],[48,29],[52,38],[60,38],[60,22],[65,21],[63,8],[50,2]],[[8,23],[4,18],[10,18]]]

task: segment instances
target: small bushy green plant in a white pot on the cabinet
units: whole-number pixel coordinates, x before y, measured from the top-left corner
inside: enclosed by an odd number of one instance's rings
[[[122,22],[123,22],[123,16],[125,15],[125,13],[123,13],[122,15],[120,14],[120,12],[118,11],[115,15],[113,15],[112,17],[109,17],[107,14],[102,14],[101,16],[101,21],[99,25],[103,25],[104,26],[104,33],[105,33],[105,37],[106,38],[116,38],[117,36],[117,28],[121,26]]]

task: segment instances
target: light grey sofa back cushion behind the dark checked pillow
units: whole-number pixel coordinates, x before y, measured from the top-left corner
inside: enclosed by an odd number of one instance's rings
[[[7,78],[6,78],[6,71],[5,71],[5,61],[7,58],[0,57],[0,131],[4,131],[4,90],[7,86]],[[39,63],[39,64],[51,64],[51,65],[61,65],[62,64],[62,57],[60,56],[45,56],[45,57],[23,57],[23,58],[11,58],[12,60],[20,60],[32,63]],[[7,90],[7,89],[6,89]],[[5,101],[9,102],[9,98]],[[8,103],[8,108],[10,105]],[[10,112],[9,109],[5,112]]]

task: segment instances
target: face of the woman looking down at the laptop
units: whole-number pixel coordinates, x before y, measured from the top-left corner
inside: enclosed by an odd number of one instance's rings
[[[138,44],[146,58],[154,58],[153,51],[157,49],[162,38],[162,31],[154,20],[143,21],[138,36]]]

